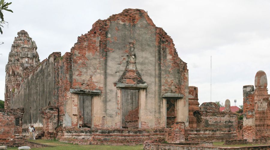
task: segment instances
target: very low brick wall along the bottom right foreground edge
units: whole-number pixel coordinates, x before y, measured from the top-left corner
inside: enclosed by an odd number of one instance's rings
[[[148,146],[149,147],[149,146]],[[149,148],[144,149],[149,149]],[[250,150],[250,149],[270,149],[270,145],[265,146],[247,146],[247,147],[213,147],[213,146],[186,146],[186,145],[175,145],[175,144],[158,144],[152,143],[150,149],[159,150]]]

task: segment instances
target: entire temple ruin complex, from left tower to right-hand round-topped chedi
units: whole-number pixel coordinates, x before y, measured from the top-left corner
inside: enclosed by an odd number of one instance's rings
[[[270,134],[263,71],[255,87],[243,88],[244,123],[230,111],[229,100],[225,111],[213,102],[199,106],[198,88],[188,85],[187,63],[172,38],[144,10],[125,9],[96,21],[70,52],[53,52],[42,62],[35,41],[18,32],[6,66],[5,109],[19,114],[15,124],[22,129],[16,134],[27,134],[33,124],[45,138],[67,143],[150,140],[148,149],[162,141],[252,141]]]

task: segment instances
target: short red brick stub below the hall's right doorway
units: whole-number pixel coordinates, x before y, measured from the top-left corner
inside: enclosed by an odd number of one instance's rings
[[[165,130],[165,140],[168,143],[179,143],[185,141],[185,122],[176,122],[172,128]]]

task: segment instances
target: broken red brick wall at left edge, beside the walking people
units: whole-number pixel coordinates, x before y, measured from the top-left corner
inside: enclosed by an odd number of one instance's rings
[[[23,108],[0,109],[0,145],[17,145],[22,140]]]

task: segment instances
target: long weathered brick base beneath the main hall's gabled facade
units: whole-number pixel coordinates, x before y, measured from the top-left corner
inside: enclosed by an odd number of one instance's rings
[[[61,142],[96,145],[137,145],[146,140],[164,140],[164,129],[88,129],[62,128],[57,138]]]

